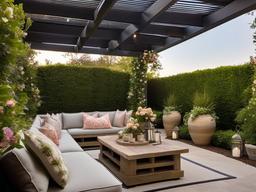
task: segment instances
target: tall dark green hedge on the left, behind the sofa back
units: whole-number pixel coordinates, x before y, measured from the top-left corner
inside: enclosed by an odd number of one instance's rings
[[[38,68],[40,113],[125,109],[129,75],[103,68]]]

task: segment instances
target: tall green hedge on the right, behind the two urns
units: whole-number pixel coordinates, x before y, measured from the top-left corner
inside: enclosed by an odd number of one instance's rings
[[[162,110],[164,100],[172,93],[185,113],[192,108],[194,93],[205,89],[213,98],[220,117],[218,129],[232,129],[236,111],[244,105],[243,98],[252,73],[251,66],[246,64],[152,79],[148,83],[148,103],[152,108]]]

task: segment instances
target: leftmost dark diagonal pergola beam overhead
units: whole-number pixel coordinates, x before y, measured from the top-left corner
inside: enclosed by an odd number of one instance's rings
[[[104,16],[111,10],[117,0],[101,0],[99,6],[94,11],[94,20],[88,21],[85,25],[80,37],[77,40],[76,50],[79,51],[93,33],[97,30]]]

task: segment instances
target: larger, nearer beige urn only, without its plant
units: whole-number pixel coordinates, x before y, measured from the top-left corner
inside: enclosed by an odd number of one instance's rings
[[[216,129],[216,120],[211,115],[188,119],[189,134],[196,145],[208,145]]]

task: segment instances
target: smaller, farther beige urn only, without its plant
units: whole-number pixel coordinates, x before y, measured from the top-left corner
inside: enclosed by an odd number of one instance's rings
[[[172,130],[180,124],[181,114],[178,111],[171,111],[163,115],[163,124],[166,132],[166,137],[172,137]]]

